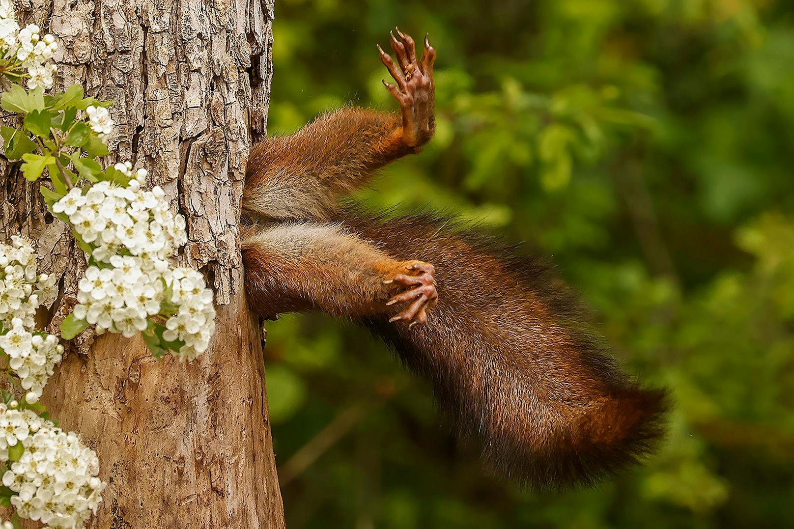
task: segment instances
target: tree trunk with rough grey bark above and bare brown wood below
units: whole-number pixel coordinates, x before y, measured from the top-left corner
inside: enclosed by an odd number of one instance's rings
[[[42,402],[97,451],[109,484],[91,527],[283,527],[237,245],[245,161],[267,118],[272,0],[54,0],[20,15],[56,36],[57,87],[115,101],[111,152],[147,168],[186,215],[180,259],[206,272],[218,305],[214,342],[192,364],[155,361],[139,338],[83,335],[56,368]],[[83,253],[37,185],[16,166],[0,173],[3,238],[31,238],[40,269],[62,278],[54,326]]]

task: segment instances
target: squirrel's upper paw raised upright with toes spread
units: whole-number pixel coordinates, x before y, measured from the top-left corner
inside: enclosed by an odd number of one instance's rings
[[[397,37],[391,32],[391,49],[395,51],[396,64],[378,45],[380,60],[397,83],[384,80],[384,86],[397,99],[403,112],[403,143],[418,149],[430,141],[435,129],[433,63],[436,50],[425,36],[425,51],[422,60],[417,60],[414,39],[399,28],[395,31]]]

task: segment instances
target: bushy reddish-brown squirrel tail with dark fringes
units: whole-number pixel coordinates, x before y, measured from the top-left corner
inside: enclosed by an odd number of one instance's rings
[[[592,485],[662,437],[665,391],[622,373],[549,265],[431,215],[345,222],[436,267],[426,325],[365,323],[430,380],[493,472],[532,488]]]

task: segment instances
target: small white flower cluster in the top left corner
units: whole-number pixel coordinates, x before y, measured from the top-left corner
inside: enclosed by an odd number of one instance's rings
[[[17,62],[28,71],[28,87],[52,88],[56,72],[52,56],[58,50],[55,37],[40,34],[39,26],[30,24],[20,29],[10,0],[0,0],[0,56]]]

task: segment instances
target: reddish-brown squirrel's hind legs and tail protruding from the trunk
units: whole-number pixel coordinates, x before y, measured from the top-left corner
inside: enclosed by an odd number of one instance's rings
[[[395,34],[397,33],[397,37]],[[545,261],[449,218],[378,218],[341,206],[434,133],[428,37],[377,46],[400,113],[345,107],[252,147],[241,227],[253,311],[352,319],[430,380],[459,438],[530,488],[593,485],[664,434],[666,393],[622,373]]]

